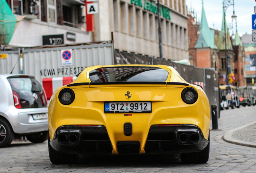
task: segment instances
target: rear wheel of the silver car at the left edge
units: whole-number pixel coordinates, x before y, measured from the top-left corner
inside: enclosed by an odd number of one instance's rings
[[[8,147],[12,142],[14,133],[10,123],[0,118],[0,148]]]

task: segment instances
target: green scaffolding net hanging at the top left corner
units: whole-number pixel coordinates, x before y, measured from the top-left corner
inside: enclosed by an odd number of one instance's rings
[[[9,44],[17,19],[8,6],[6,0],[0,0],[0,41]]]

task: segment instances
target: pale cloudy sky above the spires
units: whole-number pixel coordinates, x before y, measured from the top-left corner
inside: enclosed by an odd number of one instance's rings
[[[226,0],[227,1],[227,0]],[[232,0],[231,0],[232,1]],[[252,14],[254,13],[254,6],[256,0],[234,0],[235,14],[237,15],[237,32],[242,36],[246,32],[252,34]],[[197,12],[197,17],[201,20],[202,0],[186,0],[188,10],[192,7],[194,12]],[[222,14],[223,14],[223,0],[204,0],[204,11],[206,19],[210,28],[221,30]],[[228,25],[232,24],[233,5],[227,8],[226,21]],[[233,29],[235,34],[235,20],[233,21]],[[232,30],[230,31],[232,34]]]

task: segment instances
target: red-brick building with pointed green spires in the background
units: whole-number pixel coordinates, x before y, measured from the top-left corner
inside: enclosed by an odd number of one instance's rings
[[[209,28],[203,3],[200,24],[196,22],[192,10],[188,16],[190,17],[188,19],[190,62],[200,68],[215,68],[219,73],[219,84],[227,84],[226,79],[232,78],[229,80],[229,84],[237,87],[244,86],[246,84],[244,47],[239,35],[236,33],[233,40],[229,35],[227,25],[224,26],[224,9],[221,31]],[[226,52],[228,66],[226,65]],[[227,76],[227,68],[230,77]]]

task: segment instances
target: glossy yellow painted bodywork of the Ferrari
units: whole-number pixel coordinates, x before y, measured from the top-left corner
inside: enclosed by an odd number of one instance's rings
[[[173,72],[172,67],[161,66],[161,68],[169,70],[172,74],[168,76],[166,81],[184,82],[176,74],[176,70]],[[88,82],[88,78],[85,80],[85,74],[89,74],[89,71],[93,69],[95,68],[90,67],[88,71],[85,69],[73,83]],[[192,87],[198,92],[198,100],[192,105],[184,103],[181,99],[182,90],[186,87]],[[58,93],[64,88],[70,88],[75,93],[74,102],[67,106],[62,105],[58,100]],[[124,96],[127,91],[132,93],[129,100]],[[104,102],[109,101],[151,101],[152,113],[132,113],[132,116],[124,116],[123,113],[104,113]],[[139,141],[139,153],[143,154],[151,125],[196,125],[201,129],[204,137],[208,139],[210,107],[204,91],[192,84],[190,86],[169,84],[63,86],[54,92],[50,101],[48,122],[51,140],[56,129],[63,125],[104,125],[113,147],[113,154],[118,154],[116,146],[118,141]],[[131,136],[124,135],[124,123],[132,123]]]

